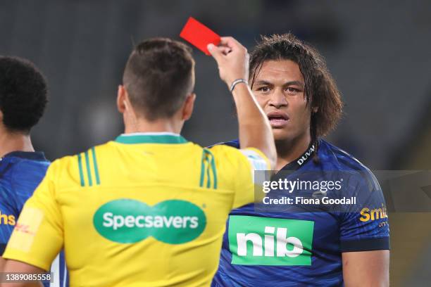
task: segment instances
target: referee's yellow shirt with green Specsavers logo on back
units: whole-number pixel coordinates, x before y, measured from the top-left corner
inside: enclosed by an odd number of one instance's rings
[[[123,134],[52,163],[4,257],[48,270],[64,247],[70,286],[209,286],[227,215],[269,169],[256,149]]]

